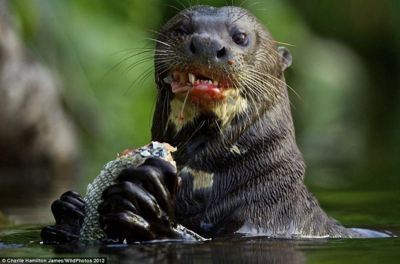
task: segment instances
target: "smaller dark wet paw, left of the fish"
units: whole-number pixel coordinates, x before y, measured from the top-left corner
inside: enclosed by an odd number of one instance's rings
[[[85,203],[77,192],[68,191],[51,205],[56,224],[42,229],[45,244],[65,244],[79,239],[80,227],[85,216]]]

